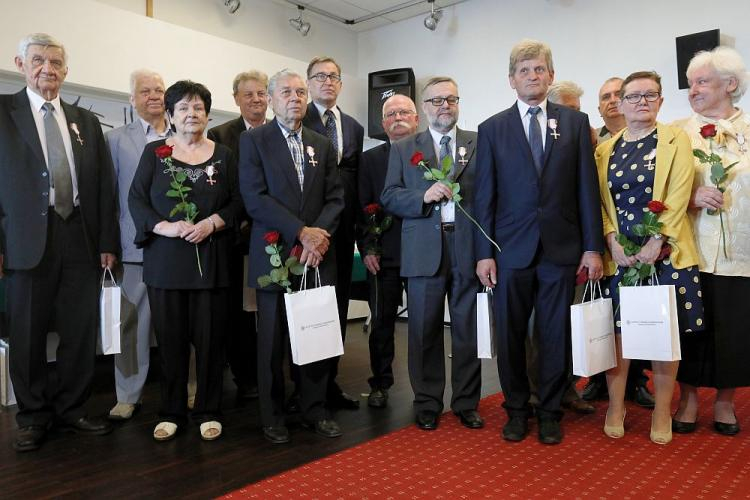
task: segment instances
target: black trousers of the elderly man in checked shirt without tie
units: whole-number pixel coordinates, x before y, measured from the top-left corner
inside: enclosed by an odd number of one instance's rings
[[[258,298],[258,398],[264,427],[284,425],[284,354],[288,351],[284,294],[257,289]],[[297,365],[295,365],[297,366]],[[297,366],[302,417],[308,422],[326,418],[326,387],[331,360]]]

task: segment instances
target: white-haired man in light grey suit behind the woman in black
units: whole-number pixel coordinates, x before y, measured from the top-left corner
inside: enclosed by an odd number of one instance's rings
[[[135,247],[135,225],[128,208],[128,192],[147,143],[170,133],[164,112],[164,81],[153,71],[136,70],[130,75],[130,103],[137,117],[131,123],[109,131],[117,183],[120,242],[122,245],[123,292],[122,353],[115,355],[117,404],[109,412],[112,420],[127,420],[140,405],[146,383],[151,341],[151,309],[143,283],[143,250]],[[118,273],[119,274],[119,273]]]

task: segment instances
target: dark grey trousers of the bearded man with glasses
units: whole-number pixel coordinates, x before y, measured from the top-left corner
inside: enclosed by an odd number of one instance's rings
[[[458,270],[455,233],[443,233],[440,268],[434,276],[409,278],[409,380],[416,411],[443,410],[445,391],[445,296],[451,316],[451,408],[474,410],[482,385],[477,358],[476,276],[463,277]]]

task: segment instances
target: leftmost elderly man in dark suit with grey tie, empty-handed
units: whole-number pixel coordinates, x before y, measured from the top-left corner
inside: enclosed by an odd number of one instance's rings
[[[56,417],[64,430],[106,434],[86,415],[94,375],[102,268],[119,249],[112,160],[93,113],[60,100],[65,49],[45,33],[19,44],[26,88],[0,96],[0,276],[7,274],[10,375],[18,451],[39,448]],[[56,390],[47,332],[60,335]]]

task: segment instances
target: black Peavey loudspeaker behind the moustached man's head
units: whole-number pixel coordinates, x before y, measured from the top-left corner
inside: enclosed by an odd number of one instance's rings
[[[411,68],[386,69],[370,73],[367,79],[367,135],[387,139],[383,131],[383,102],[394,94],[415,96],[414,71]]]

